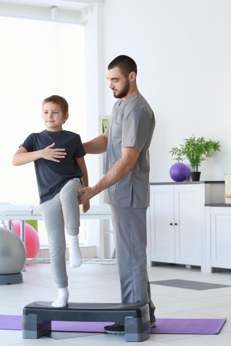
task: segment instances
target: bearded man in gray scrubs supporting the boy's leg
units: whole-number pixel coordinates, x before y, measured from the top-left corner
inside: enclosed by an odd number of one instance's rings
[[[88,154],[106,153],[106,174],[92,188],[79,190],[79,203],[85,203],[105,190],[105,202],[111,205],[115,252],[124,303],[149,304],[151,327],[156,325],[147,276],[146,211],[149,206],[149,146],[155,117],[140,94],[137,65],[120,55],[108,65],[109,88],[115,98],[105,133],[83,147]],[[123,333],[124,326],[106,326],[108,333]]]

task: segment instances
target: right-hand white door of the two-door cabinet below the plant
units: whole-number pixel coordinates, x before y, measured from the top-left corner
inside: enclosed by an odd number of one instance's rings
[[[174,186],[176,263],[201,265],[202,210],[198,184]]]

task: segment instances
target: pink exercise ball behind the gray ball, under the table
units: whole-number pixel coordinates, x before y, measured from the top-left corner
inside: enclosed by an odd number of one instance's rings
[[[21,222],[13,221],[13,226],[16,234],[21,237]],[[25,232],[26,232],[26,250],[27,250],[27,258],[36,257],[38,251],[40,250],[40,238],[37,235],[35,229],[25,223]]]

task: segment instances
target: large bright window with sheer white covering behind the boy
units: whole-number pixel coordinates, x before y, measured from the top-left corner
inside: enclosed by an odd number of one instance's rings
[[[85,137],[84,32],[73,24],[0,17],[0,201],[37,204],[33,163],[14,167],[12,155],[32,132],[44,129],[45,97],[64,96],[64,129]]]

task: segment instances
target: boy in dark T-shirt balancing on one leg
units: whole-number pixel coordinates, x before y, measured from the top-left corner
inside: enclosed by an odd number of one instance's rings
[[[78,190],[88,186],[86,154],[79,134],[63,130],[68,119],[65,98],[52,95],[42,103],[46,130],[30,134],[13,156],[12,164],[20,166],[34,161],[40,209],[48,235],[50,262],[58,297],[53,307],[63,308],[68,302],[68,277],[65,260],[65,228],[69,238],[70,267],[80,267],[80,209]],[[83,212],[90,208],[84,203]]]

